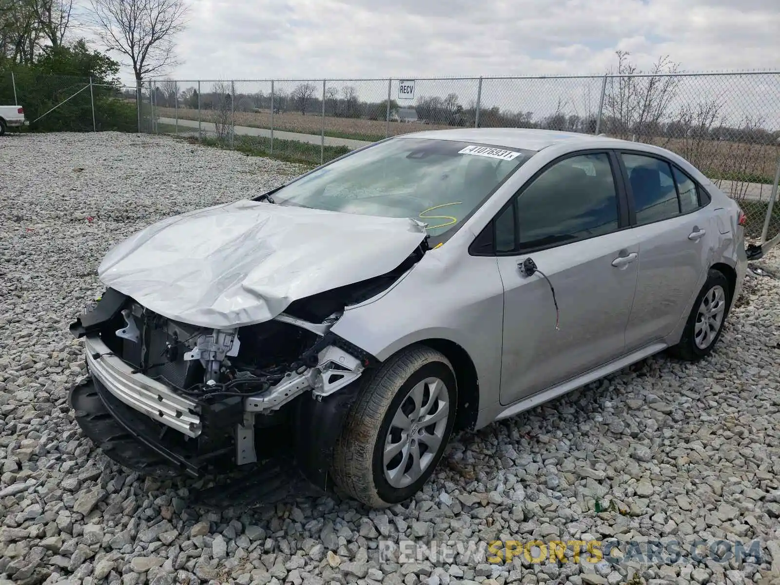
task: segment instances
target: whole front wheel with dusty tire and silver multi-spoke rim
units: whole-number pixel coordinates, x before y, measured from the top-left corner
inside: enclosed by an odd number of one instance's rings
[[[452,364],[426,346],[387,360],[347,416],[333,458],[335,484],[373,508],[411,498],[434,473],[455,423]]]

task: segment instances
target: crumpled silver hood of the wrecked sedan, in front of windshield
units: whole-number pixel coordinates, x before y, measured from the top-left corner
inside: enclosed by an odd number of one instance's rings
[[[385,274],[424,237],[410,218],[239,200],[150,225],[109,250],[97,275],[170,319],[233,328]]]

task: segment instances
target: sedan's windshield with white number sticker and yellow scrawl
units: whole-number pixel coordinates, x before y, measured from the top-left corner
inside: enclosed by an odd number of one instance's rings
[[[399,137],[350,154],[273,194],[276,203],[413,218],[441,236],[470,215],[532,151]]]

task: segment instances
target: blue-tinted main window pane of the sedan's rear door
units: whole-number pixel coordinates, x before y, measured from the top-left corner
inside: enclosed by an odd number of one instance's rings
[[[672,167],[658,158],[622,154],[633,193],[636,225],[659,222],[680,213]]]

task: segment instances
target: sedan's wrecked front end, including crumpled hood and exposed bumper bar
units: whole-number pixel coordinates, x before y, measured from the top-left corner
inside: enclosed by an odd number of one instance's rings
[[[150,225],[109,250],[105,294],[71,326],[90,374],[70,395],[76,419],[144,473],[249,469],[282,449],[327,488],[376,361],[331,329],[427,250],[409,218],[250,200]]]

